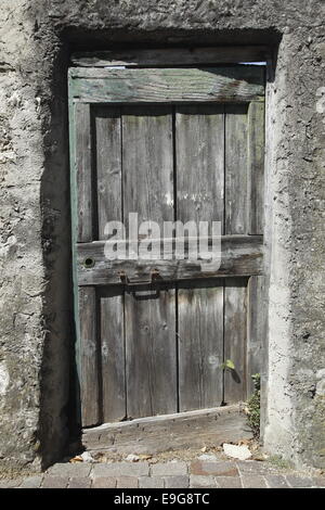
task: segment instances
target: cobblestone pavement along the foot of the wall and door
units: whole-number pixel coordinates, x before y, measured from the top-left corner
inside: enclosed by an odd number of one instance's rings
[[[0,479],[0,488],[325,488],[325,475],[256,460],[56,463],[41,474]]]

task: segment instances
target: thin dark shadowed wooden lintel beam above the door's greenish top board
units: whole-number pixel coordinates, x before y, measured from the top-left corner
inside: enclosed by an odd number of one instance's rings
[[[125,65],[172,66],[194,64],[238,64],[240,62],[264,62],[270,50],[264,46],[234,46],[216,48],[166,48],[164,50],[135,49],[110,50],[100,52],[77,52],[72,55],[72,63],[84,67],[105,67]]]

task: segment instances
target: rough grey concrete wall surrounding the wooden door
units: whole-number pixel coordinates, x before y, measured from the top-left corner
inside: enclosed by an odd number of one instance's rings
[[[47,463],[66,438],[68,52],[278,38],[270,85],[264,439],[297,464],[324,467],[324,2],[2,0],[0,20],[3,463]]]

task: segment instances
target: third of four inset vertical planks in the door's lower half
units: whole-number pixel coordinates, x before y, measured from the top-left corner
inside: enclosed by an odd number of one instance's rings
[[[223,282],[179,284],[180,411],[223,399]]]

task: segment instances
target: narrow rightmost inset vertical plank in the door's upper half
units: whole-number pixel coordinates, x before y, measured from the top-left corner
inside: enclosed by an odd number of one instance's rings
[[[247,233],[247,105],[225,106],[225,234]]]

